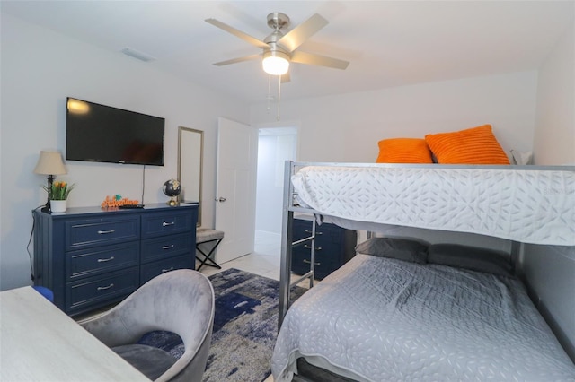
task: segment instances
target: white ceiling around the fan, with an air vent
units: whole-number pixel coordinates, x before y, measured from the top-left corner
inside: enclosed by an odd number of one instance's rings
[[[293,64],[282,99],[536,70],[574,17],[573,1],[2,1],[2,12],[118,52],[249,102],[264,102],[261,63],[215,62],[259,53],[204,22],[213,17],[264,39],[266,16],[292,27],[330,23],[299,49],[348,60],[348,69]],[[135,59],[127,57],[127,59]],[[274,85],[277,84],[274,82]]]

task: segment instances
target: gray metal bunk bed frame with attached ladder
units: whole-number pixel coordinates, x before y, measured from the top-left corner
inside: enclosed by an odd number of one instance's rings
[[[383,168],[418,168],[418,169],[433,169],[437,168],[438,164],[397,164],[397,163],[337,163],[337,162],[304,162],[304,161],[286,161],[284,165],[284,194],[283,194],[283,216],[282,216],[282,230],[281,230],[281,257],[279,267],[279,320],[278,330],[281,327],[284,317],[288,312],[290,305],[290,290],[300,282],[309,279],[309,286],[314,286],[314,261],[315,261],[315,229],[316,219],[313,219],[311,235],[304,239],[294,241],[293,239],[293,220],[294,213],[308,213],[317,215],[318,212],[311,208],[305,208],[296,204],[296,193],[291,183],[291,177],[296,173],[296,169],[305,166],[340,166],[340,167],[383,167]],[[526,169],[526,170],[562,170],[574,171],[575,166],[501,166],[501,165],[439,165],[444,169]],[[311,258],[309,272],[301,275],[295,281],[290,282],[291,279],[291,261],[292,249],[297,246],[311,243]],[[517,258],[521,251],[523,243],[511,241],[510,256],[513,260]]]

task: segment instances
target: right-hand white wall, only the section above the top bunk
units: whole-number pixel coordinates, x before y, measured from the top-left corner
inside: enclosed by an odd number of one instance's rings
[[[575,165],[574,25],[571,23],[539,71],[535,164]]]

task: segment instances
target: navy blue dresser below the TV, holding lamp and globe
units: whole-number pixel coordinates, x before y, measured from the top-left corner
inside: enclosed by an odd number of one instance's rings
[[[34,211],[34,283],[70,316],[122,300],[158,274],[195,265],[197,204]]]

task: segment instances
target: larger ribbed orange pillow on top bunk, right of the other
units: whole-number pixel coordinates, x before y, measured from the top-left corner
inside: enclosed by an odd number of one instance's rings
[[[439,163],[509,164],[509,158],[491,132],[491,125],[453,133],[425,135],[429,149]]]

